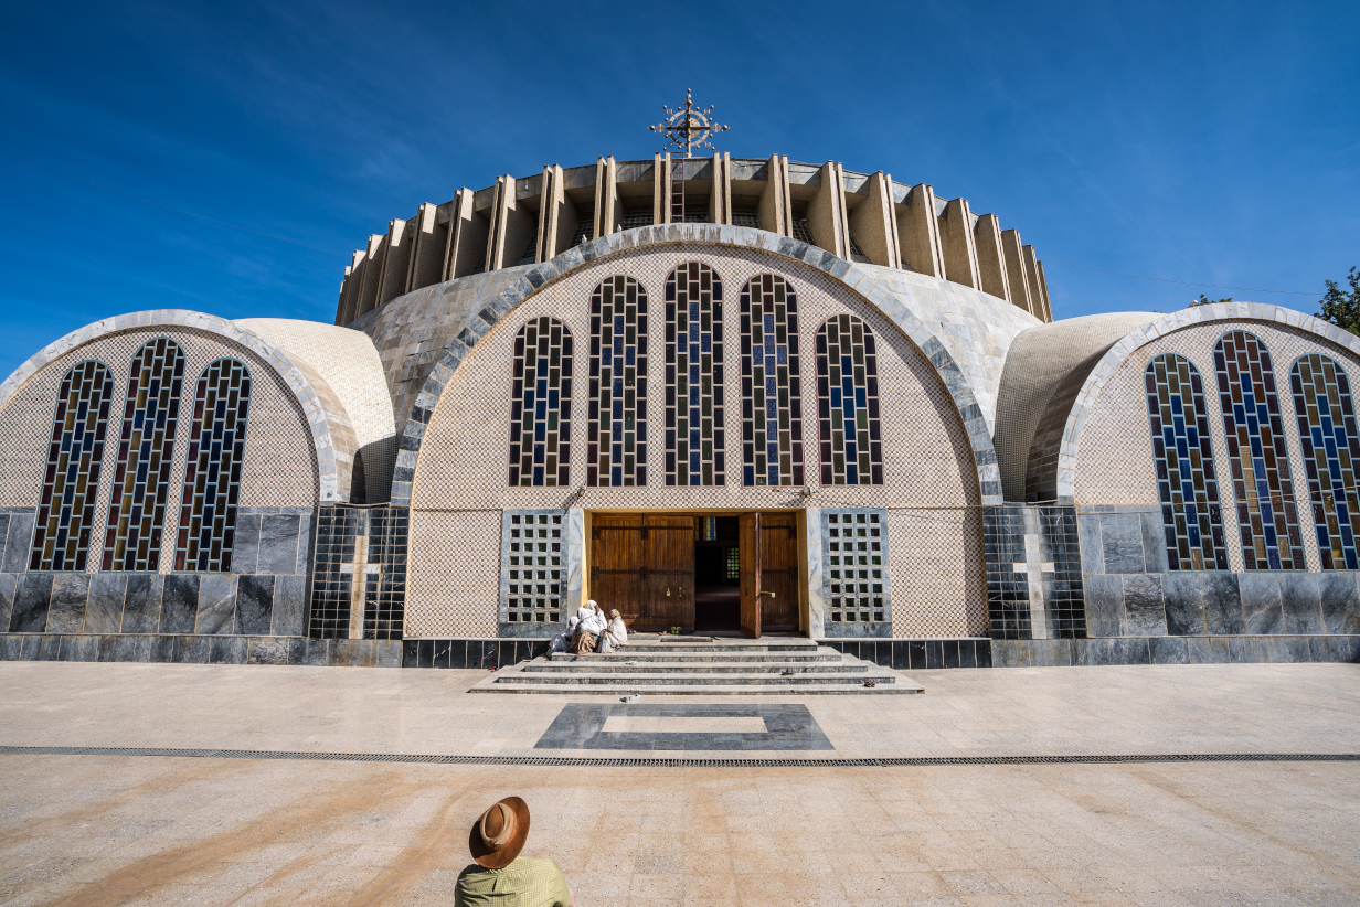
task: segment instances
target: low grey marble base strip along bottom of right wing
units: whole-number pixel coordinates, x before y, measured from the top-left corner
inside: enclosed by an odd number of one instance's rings
[[[1360,664],[1360,636],[1118,636],[994,639],[998,668],[1083,665]]]

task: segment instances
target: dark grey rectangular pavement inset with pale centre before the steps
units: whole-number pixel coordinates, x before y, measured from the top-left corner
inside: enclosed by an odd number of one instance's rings
[[[758,719],[763,732],[717,730],[732,719]],[[656,730],[605,730],[605,722],[649,719]],[[704,721],[707,719],[707,721]],[[675,730],[666,730],[675,721]],[[642,721],[630,722],[634,726]],[[714,730],[700,730],[700,728]],[[632,749],[632,751],[758,751],[835,749],[812,713],[800,704],[568,704],[558,713],[534,749]]]

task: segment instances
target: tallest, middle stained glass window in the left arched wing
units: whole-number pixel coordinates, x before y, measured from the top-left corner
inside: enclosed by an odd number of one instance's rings
[[[148,340],[132,358],[118,465],[109,492],[103,570],[154,571],[160,563],[182,383],[184,352],[174,340]]]

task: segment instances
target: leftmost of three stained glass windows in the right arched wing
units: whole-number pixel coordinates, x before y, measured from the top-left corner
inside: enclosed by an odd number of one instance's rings
[[[1223,509],[1200,370],[1185,356],[1153,356],[1142,374],[1152,454],[1171,570],[1227,570]]]

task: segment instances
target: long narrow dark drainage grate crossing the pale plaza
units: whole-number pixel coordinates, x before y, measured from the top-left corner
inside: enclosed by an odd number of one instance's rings
[[[437,766],[598,766],[601,768],[861,768],[895,766],[1068,766],[1185,761],[1360,761],[1360,753],[1144,753],[1114,756],[900,756],[884,759],[649,759],[583,756],[432,756],[328,753],[277,749],[165,749],[155,747],[0,747],[0,756],[174,756],[190,759],[299,759],[398,761]]]

